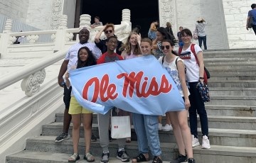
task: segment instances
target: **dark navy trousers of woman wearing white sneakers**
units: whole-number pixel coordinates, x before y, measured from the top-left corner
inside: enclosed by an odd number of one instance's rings
[[[203,103],[203,99],[196,88],[196,84],[198,82],[189,82],[188,83],[190,88],[189,91],[191,95],[189,96],[189,101],[191,102],[191,107],[189,108],[189,123],[191,127],[191,135],[197,137],[197,117],[196,111],[199,114],[200,123],[201,123],[201,130],[202,134],[208,136],[208,118],[206,113],[206,108]]]

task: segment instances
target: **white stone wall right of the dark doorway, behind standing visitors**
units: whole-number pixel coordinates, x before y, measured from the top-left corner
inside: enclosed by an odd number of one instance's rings
[[[228,39],[223,18],[222,0],[193,0],[176,1],[176,29],[179,26],[195,30],[195,24],[198,18],[204,18],[208,25],[206,26],[208,50],[227,49]],[[177,33],[178,31],[174,31]],[[194,41],[198,43],[198,41]]]

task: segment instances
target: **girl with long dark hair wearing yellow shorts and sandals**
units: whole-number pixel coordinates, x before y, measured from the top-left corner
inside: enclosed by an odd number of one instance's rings
[[[89,50],[88,47],[81,47],[78,50],[78,64],[77,69],[81,67],[87,67],[92,66],[96,64],[95,57],[93,57],[92,52]],[[68,79],[69,74],[68,72],[65,74],[65,84],[70,87],[70,81]],[[78,159],[80,159],[78,154],[78,142],[80,137],[80,125],[81,125],[81,115],[82,115],[82,125],[84,127],[84,135],[85,135],[85,156],[84,159],[87,160],[87,162],[94,162],[95,158],[90,154],[90,138],[92,133],[92,126],[91,126],[91,120],[92,120],[92,111],[87,110],[86,108],[82,108],[78,101],[76,101],[74,94],[71,94],[71,100],[70,100],[70,108],[68,111],[69,114],[72,116],[73,120],[73,148],[74,153],[72,156],[68,159],[68,162],[76,162]]]

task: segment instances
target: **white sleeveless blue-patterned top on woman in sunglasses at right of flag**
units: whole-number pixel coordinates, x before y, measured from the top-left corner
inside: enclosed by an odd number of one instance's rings
[[[164,63],[163,63],[163,58],[164,58]],[[182,91],[182,87],[181,87],[181,81],[179,80],[178,77],[178,69],[177,69],[177,65],[176,65],[176,59],[177,57],[174,58],[174,61],[169,63],[166,62],[165,60],[166,57],[159,57],[159,62],[162,64],[163,63],[163,67],[166,68],[167,72],[171,75],[171,78],[174,79],[174,82],[178,88],[179,93],[181,94],[181,96],[183,95],[183,91]],[[180,57],[178,57],[178,61],[183,62],[183,60],[181,60]],[[188,89],[188,87],[186,87],[186,89]],[[190,95],[189,91],[188,91],[188,96]]]

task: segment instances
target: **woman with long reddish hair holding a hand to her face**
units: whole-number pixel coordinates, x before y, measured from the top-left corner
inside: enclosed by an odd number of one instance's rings
[[[121,47],[121,49],[123,49],[121,56],[124,58],[124,60],[129,60],[142,54],[139,47],[140,42],[140,35],[135,32],[131,32],[129,34],[126,43],[124,43],[124,45]],[[132,120],[132,115],[128,111],[121,111],[121,113],[122,116],[130,116]],[[131,142],[131,137],[127,137],[125,142]]]

